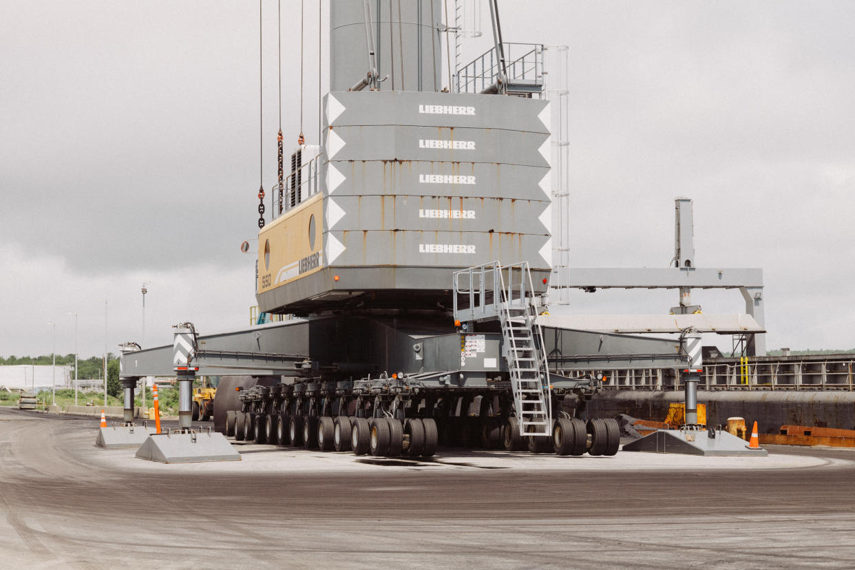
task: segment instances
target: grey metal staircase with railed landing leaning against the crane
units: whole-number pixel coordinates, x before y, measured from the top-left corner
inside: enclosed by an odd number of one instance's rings
[[[503,267],[493,261],[458,271],[454,273],[454,292],[456,320],[463,323],[498,319],[501,324],[520,434],[550,435],[549,367],[543,332],[537,322],[540,297],[534,294],[528,262]],[[460,303],[466,299],[469,303]]]

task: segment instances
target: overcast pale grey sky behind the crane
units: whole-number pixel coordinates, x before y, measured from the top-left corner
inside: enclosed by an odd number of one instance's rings
[[[268,189],[276,5],[264,2]],[[290,152],[299,2],[282,6]],[[506,41],[569,45],[573,265],[667,267],[673,198],[692,197],[696,265],[764,268],[769,348],[855,346],[855,2],[499,6]],[[74,351],[72,311],[81,355],[101,354],[98,299],[109,350],[139,342],[144,281],[146,345],[171,342],[183,320],[203,333],[248,324],[255,256],[239,244],[257,237],[258,47],[253,2],[0,0],[0,356],[50,353],[49,321],[56,351]],[[663,313],[677,294],[571,299],[577,312]],[[693,300],[744,310],[738,291]]]

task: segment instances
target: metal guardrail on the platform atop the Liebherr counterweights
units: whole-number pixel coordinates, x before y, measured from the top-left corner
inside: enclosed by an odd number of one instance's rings
[[[509,83],[543,85],[543,44],[504,43],[507,60],[505,68]],[[485,51],[454,75],[454,89],[457,93],[495,92],[500,76],[500,63],[495,48]]]

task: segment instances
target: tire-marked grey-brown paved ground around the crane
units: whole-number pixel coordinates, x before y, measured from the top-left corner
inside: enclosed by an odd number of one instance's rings
[[[851,567],[855,450],[165,466],[0,409],[2,567]],[[764,461],[761,461],[764,460]],[[389,464],[387,464],[389,463]]]

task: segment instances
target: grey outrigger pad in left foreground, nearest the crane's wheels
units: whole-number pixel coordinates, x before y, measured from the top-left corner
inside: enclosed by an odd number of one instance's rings
[[[137,457],[161,463],[240,461],[240,454],[219,432],[153,433],[139,448]]]

